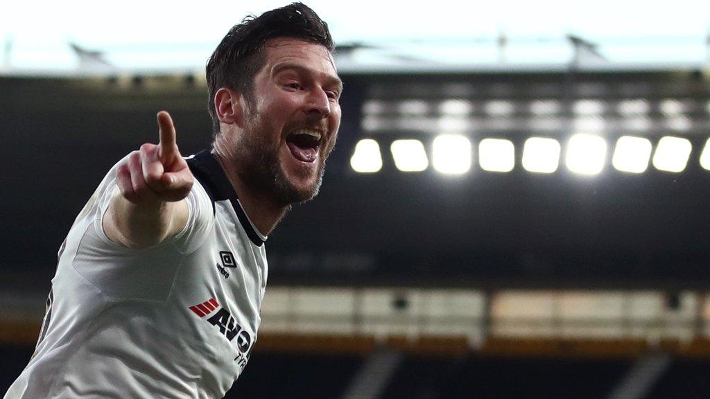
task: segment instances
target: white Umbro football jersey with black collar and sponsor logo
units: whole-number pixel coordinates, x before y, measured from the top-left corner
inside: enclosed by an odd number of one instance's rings
[[[263,241],[214,155],[187,158],[195,185],[185,229],[133,250],[102,217],[116,167],[60,249],[35,354],[16,398],[222,398],[261,322]]]

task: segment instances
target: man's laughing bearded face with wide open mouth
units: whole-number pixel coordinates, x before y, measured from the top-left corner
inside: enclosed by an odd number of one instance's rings
[[[322,45],[276,38],[263,51],[234,162],[247,185],[278,204],[310,200],[337,138],[342,83]]]

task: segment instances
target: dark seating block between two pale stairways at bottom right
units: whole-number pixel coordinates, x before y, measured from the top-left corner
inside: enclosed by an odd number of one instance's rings
[[[604,398],[628,359],[409,357],[383,398]]]

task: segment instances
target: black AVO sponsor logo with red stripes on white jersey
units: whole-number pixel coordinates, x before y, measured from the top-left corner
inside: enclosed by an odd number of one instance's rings
[[[246,332],[246,330],[236,322],[228,310],[219,306],[219,303],[214,298],[209,298],[209,300],[205,302],[190,306],[190,310],[192,310],[195,315],[200,316],[200,318],[209,316],[207,322],[217,327],[220,334],[224,335],[229,341],[233,341],[234,338],[236,338],[236,348],[239,352],[234,358],[234,361],[237,362],[239,368],[244,369],[246,362],[249,360],[251,344],[253,342],[249,332]]]

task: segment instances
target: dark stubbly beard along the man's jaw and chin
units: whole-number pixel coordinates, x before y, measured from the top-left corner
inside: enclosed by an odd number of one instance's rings
[[[250,112],[251,114],[251,112]],[[317,178],[314,184],[299,189],[286,177],[279,160],[280,141],[270,143],[275,127],[268,118],[251,114],[246,120],[251,120],[251,126],[246,126],[246,131],[236,146],[235,160],[239,170],[239,177],[246,185],[261,192],[280,206],[288,206],[297,202],[312,200],[320,191],[325,171],[325,159],[329,155],[321,153],[322,158],[317,168]],[[332,148],[331,148],[332,149]],[[321,148],[325,152],[324,148]]]

